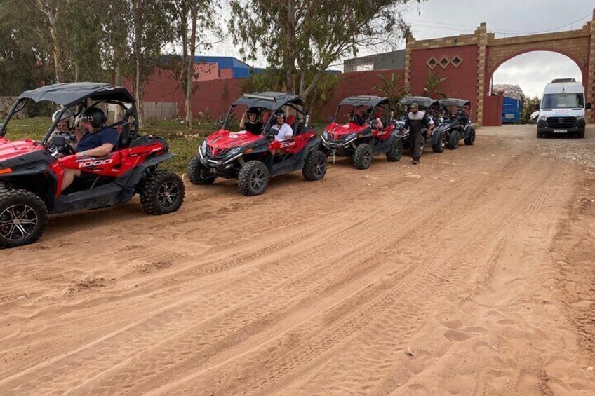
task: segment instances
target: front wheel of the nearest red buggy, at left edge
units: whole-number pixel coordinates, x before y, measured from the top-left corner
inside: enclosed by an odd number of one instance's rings
[[[0,247],[34,243],[48,225],[48,208],[39,196],[23,189],[0,187]]]

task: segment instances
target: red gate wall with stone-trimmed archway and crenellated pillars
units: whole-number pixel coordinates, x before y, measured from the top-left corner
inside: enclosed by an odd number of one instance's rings
[[[481,125],[500,125],[502,97],[490,95],[494,71],[507,60],[538,50],[561,53],[582,73],[587,101],[595,105],[595,10],[580,30],[530,34],[496,39],[485,23],[473,34],[416,41],[406,40],[405,85],[422,94],[429,74],[446,78],[440,86],[446,95],[472,101]],[[560,76],[564,77],[564,76]],[[587,116],[594,122],[594,111]]]

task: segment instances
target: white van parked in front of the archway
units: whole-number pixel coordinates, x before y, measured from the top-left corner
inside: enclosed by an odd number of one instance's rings
[[[574,78],[559,78],[545,86],[539,117],[537,137],[551,134],[584,137],[585,110],[591,103],[584,102],[584,88]]]

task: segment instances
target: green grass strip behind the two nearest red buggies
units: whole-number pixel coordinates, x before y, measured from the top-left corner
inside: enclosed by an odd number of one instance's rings
[[[41,140],[44,138],[50,124],[51,118],[49,117],[13,119],[6,128],[6,137],[10,140]],[[324,126],[321,123],[314,123],[314,127],[318,132],[321,132]],[[181,175],[186,172],[190,158],[198,152],[201,140],[215,130],[217,130],[217,125],[213,122],[195,121],[192,133],[187,134],[186,127],[180,120],[149,120],[145,121],[145,128],[143,128],[142,133],[161,136],[168,141],[170,151],[175,153],[176,156],[161,166]]]

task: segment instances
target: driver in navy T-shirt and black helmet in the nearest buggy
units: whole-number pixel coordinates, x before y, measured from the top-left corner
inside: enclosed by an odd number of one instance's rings
[[[83,128],[82,130],[77,130],[78,133],[76,133],[76,138],[79,142],[74,149],[75,156],[77,158],[102,157],[111,153],[112,149],[118,144],[118,135],[114,128],[104,126],[107,117],[102,109],[89,107],[81,113],[79,120],[82,121]],[[80,176],[80,170],[65,170],[62,179],[62,191],[74,182],[74,177]]]

